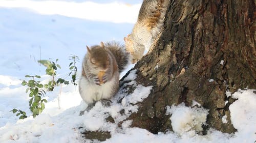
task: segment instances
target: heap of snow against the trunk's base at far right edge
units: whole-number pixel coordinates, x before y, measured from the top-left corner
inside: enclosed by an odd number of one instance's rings
[[[256,90],[239,90],[232,94],[238,99],[229,106],[231,123],[238,129],[235,135],[243,135],[241,141],[254,142],[256,139]]]

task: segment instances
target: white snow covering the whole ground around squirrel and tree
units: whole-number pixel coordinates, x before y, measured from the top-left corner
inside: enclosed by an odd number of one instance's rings
[[[46,94],[46,109],[33,119],[18,118],[10,112],[22,109],[30,115],[29,96],[20,85],[25,75],[41,75],[43,82],[45,67],[37,60],[59,59],[62,67],[58,77],[65,77],[69,70],[70,54],[86,53],[86,45],[116,40],[123,43],[123,37],[131,33],[142,1],[0,1],[0,142],[84,142],[78,127],[86,130],[110,131],[112,137],[103,142],[250,142],[256,140],[256,95],[255,90],[239,90],[231,97],[237,99],[229,106],[231,122],[238,129],[226,134],[210,128],[206,135],[196,134],[205,122],[208,110],[202,107],[185,107],[184,104],[166,107],[172,115],[173,130],[152,134],[145,129],[131,128],[132,121],[123,121],[137,106],[130,103],[142,101],[150,94],[152,87],[138,85],[133,79],[135,70],[126,80],[136,88],[131,95],[122,90],[112,99],[110,107],[96,103],[83,116],[80,110],[87,105],[82,102],[78,87],[63,85]],[[80,60],[81,61],[81,60]],[[81,62],[78,63],[80,75]],[[133,66],[133,65],[132,65]],[[132,66],[127,68],[129,70]],[[127,71],[126,70],[126,71]],[[124,72],[125,73],[125,72]],[[122,73],[122,75],[124,74]],[[230,96],[227,93],[228,96]],[[124,97],[124,98],[123,98]],[[117,101],[122,99],[121,103]],[[195,101],[196,104],[198,104]],[[120,114],[124,110],[124,114]],[[106,123],[111,116],[115,123]],[[226,123],[225,118],[222,119]],[[99,142],[86,140],[86,142]]]

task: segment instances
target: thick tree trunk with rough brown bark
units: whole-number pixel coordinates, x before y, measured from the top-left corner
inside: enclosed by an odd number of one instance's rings
[[[153,90],[129,117],[132,126],[172,130],[165,107],[195,100],[209,109],[210,127],[236,131],[225,92],[256,89],[255,9],[254,0],[170,0],[161,36],[134,68],[137,83]]]

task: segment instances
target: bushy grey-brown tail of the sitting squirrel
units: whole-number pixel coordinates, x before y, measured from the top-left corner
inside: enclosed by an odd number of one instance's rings
[[[104,45],[115,56],[119,73],[122,72],[124,68],[129,64],[130,53],[126,51],[124,45],[115,41],[104,43]]]

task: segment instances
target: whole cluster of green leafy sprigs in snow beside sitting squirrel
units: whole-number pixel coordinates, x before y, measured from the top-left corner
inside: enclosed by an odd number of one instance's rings
[[[71,72],[69,73],[69,76],[72,74],[72,80],[71,83],[73,83],[74,85],[76,85],[75,80],[76,80],[76,73],[77,73],[77,67],[76,67],[76,63],[79,62],[79,58],[76,55],[72,55],[70,56],[70,59],[72,60],[72,63],[70,63],[69,65],[69,69],[71,70]],[[26,75],[25,77],[27,78],[31,78],[28,81],[23,80],[22,81],[22,85],[23,86],[27,86],[28,88],[26,89],[26,93],[29,92],[29,108],[30,111],[32,112],[32,116],[33,118],[35,118],[37,115],[39,115],[42,110],[45,109],[45,103],[47,103],[47,100],[44,99],[44,96],[46,94],[44,89],[47,89],[48,91],[53,91],[53,89],[58,86],[59,84],[62,85],[62,83],[64,84],[69,84],[69,81],[62,79],[62,78],[58,78],[57,81],[55,81],[55,77],[56,77],[56,70],[59,68],[61,68],[57,62],[58,59],[55,60],[55,62],[52,61],[48,61],[48,60],[40,60],[38,61],[40,64],[46,66],[46,74],[51,76],[51,80],[47,83],[47,84],[41,84],[39,80],[35,80],[36,78],[41,78],[41,76],[39,75]],[[61,88],[60,88],[60,93],[61,93]],[[59,95],[60,96],[60,95]],[[58,100],[59,100],[59,96],[58,96]],[[16,116],[20,116],[19,119],[25,119],[27,118],[26,116],[26,112],[19,110],[19,109],[12,109],[11,110],[13,113],[16,113]]]

